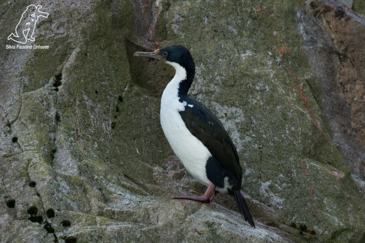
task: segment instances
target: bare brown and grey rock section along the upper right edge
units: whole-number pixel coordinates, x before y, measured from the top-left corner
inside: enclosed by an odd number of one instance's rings
[[[328,119],[333,143],[351,173],[365,179],[365,19],[345,6],[310,1],[299,12],[304,48],[320,83],[316,100]],[[319,24],[323,23],[323,24]]]

